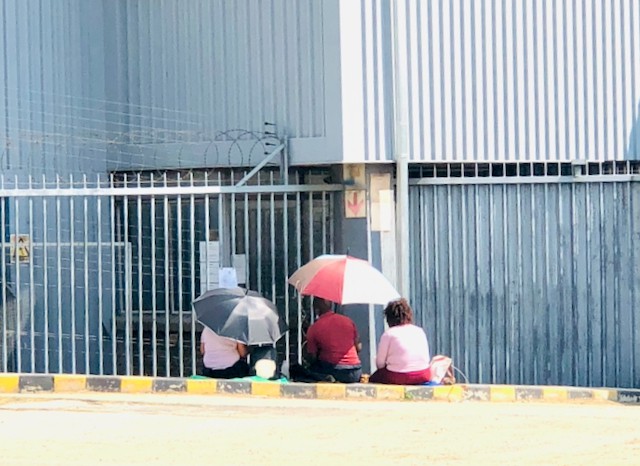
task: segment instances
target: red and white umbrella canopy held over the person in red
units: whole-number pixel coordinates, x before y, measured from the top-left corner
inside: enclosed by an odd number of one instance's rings
[[[289,277],[300,294],[338,304],[387,304],[400,298],[389,280],[369,262],[327,254],[300,267]]]

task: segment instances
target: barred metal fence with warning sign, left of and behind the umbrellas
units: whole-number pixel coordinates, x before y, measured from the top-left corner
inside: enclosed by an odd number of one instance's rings
[[[0,369],[188,376],[201,364],[195,297],[233,268],[285,311],[302,354],[307,303],[287,277],[333,250],[334,192],[264,169],[0,180]],[[320,174],[322,175],[322,174]]]

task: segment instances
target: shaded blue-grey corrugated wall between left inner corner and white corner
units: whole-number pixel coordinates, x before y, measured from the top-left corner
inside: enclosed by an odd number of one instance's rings
[[[163,134],[197,142],[265,121],[291,137],[324,135],[320,2],[118,0],[105,8],[117,22],[108,31],[110,98],[127,103],[132,130],[155,130],[137,142],[163,142]]]

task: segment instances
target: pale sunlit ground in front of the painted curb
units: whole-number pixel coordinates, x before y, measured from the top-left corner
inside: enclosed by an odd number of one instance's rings
[[[640,464],[640,406],[2,395],[0,464]]]

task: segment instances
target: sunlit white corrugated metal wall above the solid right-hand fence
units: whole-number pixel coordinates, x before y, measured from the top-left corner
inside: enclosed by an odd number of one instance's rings
[[[412,160],[640,158],[636,0],[397,0],[392,8],[396,79],[407,86],[396,110]],[[363,24],[376,16],[363,14]]]

